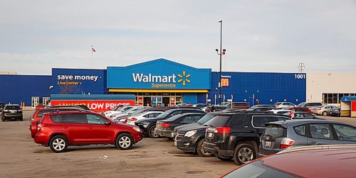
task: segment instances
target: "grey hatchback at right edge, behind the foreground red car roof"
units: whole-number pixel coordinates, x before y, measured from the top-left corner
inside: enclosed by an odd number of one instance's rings
[[[337,121],[315,119],[266,123],[260,156],[307,145],[355,144],[356,127]]]

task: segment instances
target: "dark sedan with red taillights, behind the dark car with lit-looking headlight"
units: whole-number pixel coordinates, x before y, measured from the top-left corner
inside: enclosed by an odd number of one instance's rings
[[[155,134],[160,137],[173,138],[173,129],[187,123],[197,123],[205,113],[182,113],[156,123]]]

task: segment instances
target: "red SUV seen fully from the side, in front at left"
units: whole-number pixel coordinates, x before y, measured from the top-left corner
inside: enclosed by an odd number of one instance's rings
[[[35,143],[50,147],[53,152],[65,152],[69,145],[113,144],[128,150],[142,140],[137,126],[113,123],[91,111],[46,113],[37,125]]]

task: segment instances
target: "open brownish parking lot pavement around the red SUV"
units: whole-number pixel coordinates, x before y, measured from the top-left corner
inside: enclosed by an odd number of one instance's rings
[[[53,153],[33,143],[28,117],[0,122],[0,177],[217,177],[236,167],[216,157],[184,153],[164,138],[144,138],[132,150],[113,145]]]

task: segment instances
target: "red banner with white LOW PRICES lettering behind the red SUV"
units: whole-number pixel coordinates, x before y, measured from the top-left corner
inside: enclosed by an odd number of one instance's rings
[[[115,108],[117,105],[135,105],[135,100],[105,101],[105,100],[52,100],[51,105],[74,105],[82,104],[88,106],[91,111],[103,112]]]

